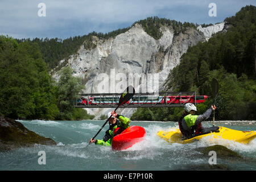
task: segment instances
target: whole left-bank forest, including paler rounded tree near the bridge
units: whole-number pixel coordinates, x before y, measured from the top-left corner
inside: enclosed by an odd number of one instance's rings
[[[48,73],[39,44],[0,36],[0,115],[14,119],[92,119],[73,107],[82,80],[67,67],[60,81]]]

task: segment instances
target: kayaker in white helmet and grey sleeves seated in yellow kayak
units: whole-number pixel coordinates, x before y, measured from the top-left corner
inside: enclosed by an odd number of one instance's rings
[[[201,122],[210,117],[212,111],[216,110],[216,106],[212,105],[204,114],[195,115],[197,109],[192,103],[185,104],[183,117],[179,121],[179,128],[182,139],[189,139],[200,134],[207,134],[211,131],[217,131],[219,127],[213,126],[209,128],[202,127]]]

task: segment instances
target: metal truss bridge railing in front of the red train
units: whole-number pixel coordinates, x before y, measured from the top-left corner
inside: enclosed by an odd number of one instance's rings
[[[80,94],[75,101],[75,107],[84,108],[105,108],[116,107],[119,97],[122,93],[90,93]],[[167,96],[173,96],[172,101],[168,101]],[[185,100],[175,103],[176,98],[181,96],[189,96]],[[183,107],[194,97],[196,105],[196,92],[159,92],[159,93],[135,93],[133,98],[121,107]]]

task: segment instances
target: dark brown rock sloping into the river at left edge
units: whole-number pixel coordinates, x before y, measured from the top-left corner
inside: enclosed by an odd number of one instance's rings
[[[42,137],[28,130],[22,123],[0,117],[0,151],[37,144],[56,144],[51,138]]]

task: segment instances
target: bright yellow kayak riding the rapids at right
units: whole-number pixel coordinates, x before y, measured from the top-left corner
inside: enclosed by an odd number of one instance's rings
[[[210,136],[212,139],[228,139],[235,142],[240,142],[243,144],[249,143],[256,137],[256,131],[238,131],[233,129],[228,129],[223,126],[219,126],[219,132],[213,132],[203,135],[198,135],[196,137],[182,140],[181,133],[179,129],[171,128],[170,131],[158,131],[157,135],[170,143],[191,143],[195,140],[200,140],[203,137]]]

